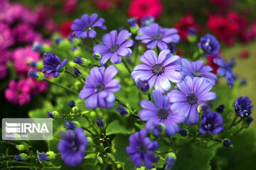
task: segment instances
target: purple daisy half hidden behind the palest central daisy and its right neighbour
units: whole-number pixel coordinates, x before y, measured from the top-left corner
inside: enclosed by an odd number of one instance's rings
[[[204,66],[203,60],[198,60],[196,62],[189,62],[187,59],[181,59],[182,71],[186,76],[189,77],[204,77],[209,81],[212,86],[215,86],[217,77],[215,74],[211,73],[213,70],[210,66]]]

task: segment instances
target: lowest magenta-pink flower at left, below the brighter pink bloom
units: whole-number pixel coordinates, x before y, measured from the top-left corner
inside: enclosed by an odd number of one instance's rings
[[[12,80],[9,83],[9,88],[5,90],[4,95],[10,103],[18,103],[22,106],[25,103],[29,103],[31,99],[30,90],[31,88],[25,80],[20,80],[17,83]]]

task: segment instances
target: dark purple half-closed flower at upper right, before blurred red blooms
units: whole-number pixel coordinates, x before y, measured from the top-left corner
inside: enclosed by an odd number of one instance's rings
[[[200,42],[198,42],[198,47],[213,57],[218,55],[220,51],[220,43],[215,36],[210,34],[206,34],[201,38]]]

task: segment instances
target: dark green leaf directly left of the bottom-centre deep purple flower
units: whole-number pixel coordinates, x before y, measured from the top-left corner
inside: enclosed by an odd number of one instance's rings
[[[113,147],[115,149],[114,157],[117,162],[122,162],[124,170],[137,169],[133,162],[129,159],[129,154],[126,152],[126,147],[129,146],[129,135],[118,134],[114,137]]]

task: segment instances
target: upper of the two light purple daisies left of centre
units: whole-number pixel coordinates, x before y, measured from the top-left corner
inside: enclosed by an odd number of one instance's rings
[[[132,33],[129,33],[128,30],[122,30],[118,36],[117,30],[103,35],[102,42],[104,45],[93,47],[93,52],[102,56],[100,64],[105,64],[109,59],[112,63],[119,64],[122,62],[122,56],[130,57],[132,50],[129,47],[132,47],[133,41],[127,40],[127,38],[131,36]]]

